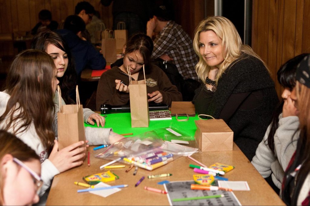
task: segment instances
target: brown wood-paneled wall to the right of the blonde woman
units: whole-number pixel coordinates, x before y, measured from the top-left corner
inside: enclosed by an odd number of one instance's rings
[[[310,1],[253,0],[252,48],[268,65],[279,97],[277,71],[290,58],[310,53],[309,35]]]

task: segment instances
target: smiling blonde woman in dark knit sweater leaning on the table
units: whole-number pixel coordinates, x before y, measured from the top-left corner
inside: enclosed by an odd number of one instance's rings
[[[225,17],[202,20],[193,46],[199,56],[196,72],[203,82],[193,99],[196,111],[224,119],[251,160],[279,101],[266,65],[242,44]]]

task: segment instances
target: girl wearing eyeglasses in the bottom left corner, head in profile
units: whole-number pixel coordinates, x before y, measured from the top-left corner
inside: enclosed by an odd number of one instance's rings
[[[14,135],[0,130],[0,205],[32,205],[42,187],[40,158]]]

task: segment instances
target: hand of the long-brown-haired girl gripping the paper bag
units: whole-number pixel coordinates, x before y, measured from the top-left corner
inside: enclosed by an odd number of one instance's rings
[[[82,158],[85,158],[86,155],[86,147],[79,146],[82,146],[84,141],[79,141],[59,151],[58,141],[55,140],[54,143],[54,147],[48,159],[53,163],[53,165],[55,165],[60,173],[73,167],[82,165]]]

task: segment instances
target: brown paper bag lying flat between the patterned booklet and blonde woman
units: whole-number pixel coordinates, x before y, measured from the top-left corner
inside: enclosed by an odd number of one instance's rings
[[[188,117],[196,116],[195,106],[192,102],[172,102],[171,116],[175,116],[177,121],[187,121]],[[178,116],[187,116],[187,119],[180,120]]]

